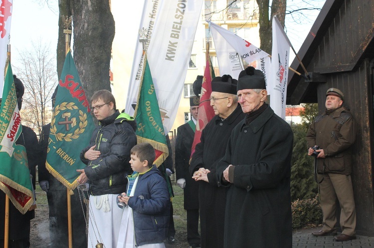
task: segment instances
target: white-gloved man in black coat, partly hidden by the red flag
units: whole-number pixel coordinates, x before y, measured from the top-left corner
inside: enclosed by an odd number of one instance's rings
[[[195,134],[199,98],[189,98],[191,120],[177,129],[176,176],[177,184],[184,189],[185,209],[187,210],[187,242],[192,248],[200,247],[198,233],[198,183],[189,175],[189,159]]]

